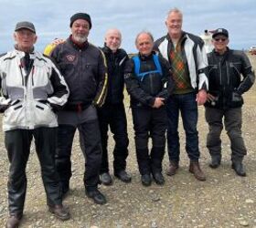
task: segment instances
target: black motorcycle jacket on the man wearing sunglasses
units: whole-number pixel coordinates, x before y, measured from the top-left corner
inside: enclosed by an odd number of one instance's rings
[[[238,50],[228,48],[221,56],[213,50],[208,53],[208,67],[208,93],[216,99],[206,102],[205,106],[216,109],[241,107],[242,94],[251,88],[255,80],[249,58]]]

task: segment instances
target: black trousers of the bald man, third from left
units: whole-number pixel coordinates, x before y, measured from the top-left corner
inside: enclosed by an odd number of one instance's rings
[[[128,156],[127,120],[123,103],[105,104],[98,109],[98,117],[101,129],[102,160],[101,173],[109,172],[108,160],[108,130],[113,134],[115,146],[113,149],[113,171],[117,173],[126,169]]]

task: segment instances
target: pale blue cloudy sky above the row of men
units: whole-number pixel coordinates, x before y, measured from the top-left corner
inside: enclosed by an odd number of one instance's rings
[[[13,48],[18,21],[31,21],[37,29],[38,50],[55,37],[67,38],[69,18],[75,13],[91,15],[89,41],[102,46],[105,31],[117,27],[123,33],[122,47],[136,52],[134,37],[142,30],[155,38],[166,34],[169,9],[183,12],[183,30],[200,35],[205,29],[229,30],[229,47],[248,49],[256,45],[255,0],[0,0],[0,53]]]

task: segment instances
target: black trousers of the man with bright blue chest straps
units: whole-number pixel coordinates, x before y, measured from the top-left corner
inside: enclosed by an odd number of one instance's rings
[[[165,155],[166,110],[133,108],[133,129],[135,131],[136,156],[142,175],[162,171]],[[149,154],[148,140],[152,139]]]

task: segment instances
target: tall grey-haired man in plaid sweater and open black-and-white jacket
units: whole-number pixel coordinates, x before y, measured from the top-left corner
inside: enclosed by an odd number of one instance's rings
[[[186,150],[190,160],[189,171],[197,180],[205,181],[206,176],[199,166],[197,105],[207,100],[208,59],[203,40],[182,31],[182,12],[177,8],[169,11],[165,25],[168,34],[155,41],[157,50],[167,59],[175,80],[174,94],[168,99],[167,143],[170,165],[167,175],[174,175],[179,167],[179,112],[186,133]]]

